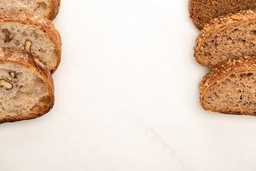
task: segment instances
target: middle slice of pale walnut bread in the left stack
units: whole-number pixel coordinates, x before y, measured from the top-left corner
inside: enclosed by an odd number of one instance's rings
[[[61,61],[61,35],[42,16],[24,12],[0,13],[0,47],[21,48],[40,57],[51,73]]]

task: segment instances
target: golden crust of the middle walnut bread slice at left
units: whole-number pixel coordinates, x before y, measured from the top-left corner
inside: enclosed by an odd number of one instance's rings
[[[35,28],[41,29],[47,33],[55,44],[55,49],[58,53],[57,64],[51,73],[54,73],[61,62],[61,35],[58,30],[54,28],[54,24],[42,16],[34,16],[25,12],[10,11],[7,13],[0,13],[0,22],[20,22],[29,24]]]

